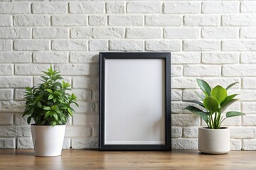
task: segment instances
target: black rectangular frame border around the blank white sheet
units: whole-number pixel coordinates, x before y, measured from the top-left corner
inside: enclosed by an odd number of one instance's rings
[[[165,143],[163,145],[105,144],[105,67],[107,60],[142,59],[164,60]],[[99,86],[99,150],[100,151],[171,151],[171,52],[100,52]],[[164,93],[164,92],[163,92]],[[118,127],[117,127],[118,128]]]

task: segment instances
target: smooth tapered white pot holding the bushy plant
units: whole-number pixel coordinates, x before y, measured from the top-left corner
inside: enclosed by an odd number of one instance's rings
[[[65,135],[65,125],[31,125],[36,156],[60,156]]]

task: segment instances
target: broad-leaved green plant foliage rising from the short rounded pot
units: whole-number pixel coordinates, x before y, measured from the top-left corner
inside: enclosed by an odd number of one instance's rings
[[[201,98],[201,101],[189,101],[192,103],[196,103],[203,110],[196,108],[194,106],[187,106],[186,110],[191,111],[192,113],[196,113],[199,115],[208,125],[208,128],[210,129],[219,129],[221,123],[223,123],[223,120],[226,118],[238,116],[238,115],[245,115],[245,113],[237,112],[237,111],[229,111],[225,114],[225,118],[223,118],[222,113],[230,106],[231,104],[235,103],[235,101],[238,101],[238,98],[235,98],[235,96],[238,96],[238,94],[232,94],[228,96],[228,89],[230,89],[232,86],[237,84],[238,82],[235,82],[233,84],[230,84],[227,88],[223,88],[222,86],[218,85],[215,86],[213,89],[210,88],[209,84],[206,81],[203,81],[202,79],[196,79],[198,86],[203,91],[204,96],[201,96],[196,93],[196,95]]]

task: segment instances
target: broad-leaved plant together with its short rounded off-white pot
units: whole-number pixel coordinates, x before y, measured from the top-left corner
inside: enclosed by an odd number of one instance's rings
[[[238,94],[231,94],[228,96],[228,89],[237,84],[235,82],[230,84],[227,88],[218,85],[213,89],[209,84],[202,79],[196,79],[198,86],[203,91],[203,96],[196,93],[201,98],[201,101],[190,101],[198,104],[199,108],[194,106],[187,106],[186,110],[199,115],[208,127],[200,127],[198,129],[198,149],[207,154],[225,154],[230,151],[230,130],[227,127],[221,127],[221,123],[226,118],[245,115],[245,113],[237,111],[228,111],[223,116],[224,111],[231,104],[238,101]]]

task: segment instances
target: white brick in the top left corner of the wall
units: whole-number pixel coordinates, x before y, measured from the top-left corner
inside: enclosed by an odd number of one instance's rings
[[[0,4],[0,13],[29,13],[29,3],[2,3]]]

